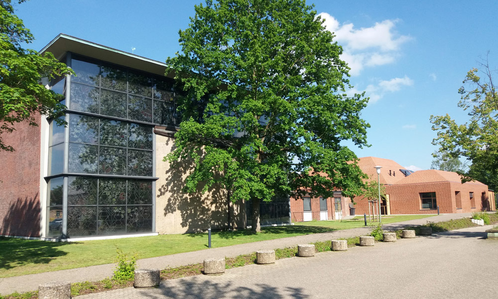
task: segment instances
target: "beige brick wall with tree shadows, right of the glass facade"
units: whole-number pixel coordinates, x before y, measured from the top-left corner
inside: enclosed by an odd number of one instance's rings
[[[174,139],[156,134],[156,231],[160,234],[182,234],[212,229],[245,226],[245,210],[241,202],[232,203],[227,191],[212,187],[202,194],[184,193],[185,178],[192,170],[191,161],[170,168],[163,161],[174,147]],[[200,187],[202,189],[202,187]],[[229,207],[230,206],[230,207]]]

